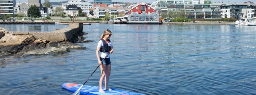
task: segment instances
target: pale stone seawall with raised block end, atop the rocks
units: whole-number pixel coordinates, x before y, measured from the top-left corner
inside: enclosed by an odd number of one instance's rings
[[[59,29],[52,32],[12,32],[14,35],[33,35],[36,39],[44,39],[48,41],[69,41],[76,42],[77,37],[82,34],[83,23],[69,23],[69,27],[65,29]]]

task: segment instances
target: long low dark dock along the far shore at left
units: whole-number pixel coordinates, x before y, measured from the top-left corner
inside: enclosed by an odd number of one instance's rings
[[[54,22],[0,22],[0,24],[51,24],[54,25]]]

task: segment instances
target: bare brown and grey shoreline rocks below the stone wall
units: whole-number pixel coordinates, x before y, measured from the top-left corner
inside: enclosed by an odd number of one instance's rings
[[[10,31],[0,27],[0,57],[5,55],[34,55],[34,54],[49,54],[53,52],[65,53],[72,48],[86,49],[72,42],[92,42],[91,40],[84,41],[83,35],[88,34],[79,31],[71,42],[49,41],[45,39],[37,39],[32,34],[13,34]]]

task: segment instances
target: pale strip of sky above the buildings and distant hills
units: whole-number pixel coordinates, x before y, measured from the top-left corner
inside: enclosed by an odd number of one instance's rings
[[[21,2],[28,2],[27,0],[16,0],[16,2],[18,3],[19,1]],[[50,0],[50,2],[60,2],[60,1],[68,1],[68,0]],[[93,0],[85,0],[85,1],[89,1],[89,2],[92,2]],[[112,0],[112,2],[154,2],[155,0]],[[193,1],[197,1],[197,0],[193,0]],[[227,3],[228,1],[230,1],[230,3],[243,3],[243,2],[246,2],[246,1],[252,1],[252,2],[256,2],[256,0],[211,0],[212,2],[216,1],[216,2],[224,2],[224,3]],[[43,3],[44,0],[41,0],[41,3]]]

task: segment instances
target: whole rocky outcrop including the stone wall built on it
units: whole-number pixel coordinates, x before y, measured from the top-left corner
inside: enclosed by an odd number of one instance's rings
[[[68,28],[53,32],[10,32],[0,27],[0,57],[10,54],[48,54],[85,49],[74,42],[84,39],[83,23],[69,23]]]

